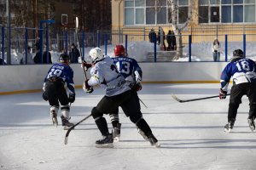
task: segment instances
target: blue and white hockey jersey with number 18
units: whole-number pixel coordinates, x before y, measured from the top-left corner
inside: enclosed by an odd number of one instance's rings
[[[222,71],[220,77],[221,88],[228,91],[230,78],[234,84],[256,81],[256,64],[252,59],[241,58],[230,62]]]

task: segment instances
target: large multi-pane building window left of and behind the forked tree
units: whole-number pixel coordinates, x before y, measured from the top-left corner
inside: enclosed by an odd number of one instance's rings
[[[178,5],[178,23],[188,18],[188,0],[175,0]],[[125,0],[125,25],[156,25],[172,22],[168,0]]]

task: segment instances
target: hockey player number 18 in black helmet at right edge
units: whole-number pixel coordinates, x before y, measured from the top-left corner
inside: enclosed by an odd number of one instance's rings
[[[252,131],[255,130],[256,117],[256,65],[252,59],[246,59],[241,49],[233,52],[233,58],[226,65],[220,77],[221,88],[219,99],[225,99],[228,92],[230,78],[233,77],[233,86],[230,90],[230,105],[228,124],[224,126],[225,132],[230,132],[236,121],[236,114],[241,98],[247,95],[250,102],[247,122]]]

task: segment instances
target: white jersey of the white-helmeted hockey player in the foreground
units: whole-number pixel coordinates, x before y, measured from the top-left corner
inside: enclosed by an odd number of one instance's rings
[[[105,88],[106,96],[122,94],[131,89],[130,83],[125,81],[125,77],[119,73],[113,59],[108,55],[96,62],[96,65],[90,69],[90,75],[88,84],[90,86],[100,85],[101,88]]]

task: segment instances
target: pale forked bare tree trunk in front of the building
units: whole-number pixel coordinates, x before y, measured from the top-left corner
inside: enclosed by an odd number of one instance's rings
[[[175,0],[167,0],[168,6],[170,6],[170,12],[172,14],[172,29],[174,31],[174,34],[176,36],[176,42],[177,42],[177,52],[174,59],[179,59],[180,57],[183,57],[183,40],[182,40],[182,31],[184,28],[186,28],[192,18],[192,9],[194,7],[194,0],[189,1],[189,14],[187,20],[183,24],[179,24],[177,22],[177,13],[178,13],[178,6],[175,3]]]

